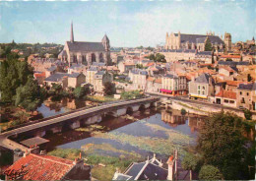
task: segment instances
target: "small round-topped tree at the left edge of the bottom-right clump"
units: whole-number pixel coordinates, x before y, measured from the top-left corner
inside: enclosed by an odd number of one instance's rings
[[[181,166],[190,172],[190,180],[192,180],[192,170],[196,170],[199,165],[199,159],[192,153],[186,153],[182,159]]]

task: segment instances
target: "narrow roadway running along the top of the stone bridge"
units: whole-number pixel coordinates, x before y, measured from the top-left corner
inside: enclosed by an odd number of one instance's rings
[[[111,103],[111,104],[105,104],[105,105],[100,105],[100,106],[93,107],[93,108],[80,110],[80,111],[77,111],[77,112],[72,112],[70,114],[66,114],[66,115],[56,117],[56,118],[53,118],[53,119],[48,119],[48,120],[45,120],[45,121],[42,121],[42,122],[37,122],[37,123],[34,123],[32,125],[24,126],[24,127],[21,127],[21,128],[17,128],[17,129],[14,129],[14,130],[10,130],[10,131],[1,133],[0,134],[0,145],[4,146],[4,147],[7,147],[9,149],[14,149],[12,146],[7,146],[7,144],[6,144],[7,143],[6,142],[7,138],[12,136],[12,135],[28,132],[28,131],[31,131],[33,129],[37,129],[37,128],[41,128],[41,127],[44,127],[44,126],[47,126],[47,125],[59,123],[59,122],[65,121],[67,119],[72,119],[72,118],[76,118],[78,116],[85,115],[85,114],[88,114],[88,113],[104,110],[104,109],[108,108],[109,106],[118,107],[118,106],[121,106],[121,105],[140,103],[140,102],[144,102],[144,101],[152,101],[152,100],[157,100],[157,99],[158,98],[156,98],[156,97],[147,97],[147,98],[140,98],[140,99],[135,99],[135,100],[128,100],[128,101],[116,102],[116,103]]]

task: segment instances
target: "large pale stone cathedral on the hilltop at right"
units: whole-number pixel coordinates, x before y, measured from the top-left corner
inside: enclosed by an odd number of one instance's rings
[[[197,49],[198,51],[205,51],[205,43],[209,38],[212,45],[218,49],[223,49],[225,43],[230,46],[231,36],[230,34],[225,34],[225,39],[223,40],[218,35],[213,32],[207,32],[206,35],[203,34],[185,34],[185,33],[166,33],[165,38],[165,49]]]

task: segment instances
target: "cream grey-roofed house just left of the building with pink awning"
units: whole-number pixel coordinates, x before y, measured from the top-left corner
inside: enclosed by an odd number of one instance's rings
[[[147,84],[148,72],[141,69],[133,69],[129,71],[129,78],[133,84],[133,90],[145,90]]]

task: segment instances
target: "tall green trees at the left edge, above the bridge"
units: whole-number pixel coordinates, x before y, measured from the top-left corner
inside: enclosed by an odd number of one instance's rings
[[[45,97],[45,91],[33,80],[32,67],[6,48],[6,59],[0,65],[1,101],[22,106],[29,111],[37,108]]]

